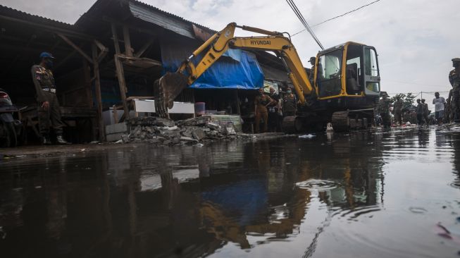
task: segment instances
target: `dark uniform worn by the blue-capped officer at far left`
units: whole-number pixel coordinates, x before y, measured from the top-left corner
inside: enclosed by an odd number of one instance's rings
[[[41,135],[49,135],[50,126],[53,127],[56,135],[62,135],[63,123],[61,121],[61,110],[59,109],[58,98],[56,97],[56,85],[51,70],[43,66],[32,66],[32,80],[37,91],[38,123]],[[43,102],[49,102],[48,109],[42,107]]]

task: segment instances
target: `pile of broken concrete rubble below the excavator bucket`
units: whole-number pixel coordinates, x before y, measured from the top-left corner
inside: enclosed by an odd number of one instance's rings
[[[235,140],[238,135],[229,123],[220,126],[209,116],[199,116],[182,121],[166,118],[131,118],[127,134],[121,136],[124,143],[149,142],[155,145],[195,145],[215,140]]]

